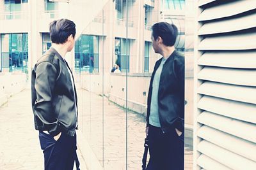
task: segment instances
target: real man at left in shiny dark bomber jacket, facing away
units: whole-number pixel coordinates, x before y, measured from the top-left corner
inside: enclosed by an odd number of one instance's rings
[[[44,150],[45,170],[79,169],[76,154],[77,94],[65,55],[74,48],[71,20],[50,24],[52,46],[35,64],[31,77],[35,129]]]

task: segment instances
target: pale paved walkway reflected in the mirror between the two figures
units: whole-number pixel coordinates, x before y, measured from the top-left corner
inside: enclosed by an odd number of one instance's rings
[[[102,96],[93,92],[81,89],[77,92],[79,97],[79,130],[83,132],[83,136],[104,169],[126,169],[127,154],[128,169],[141,170],[145,117],[128,111],[128,127],[126,129],[126,111],[123,108],[109,102],[106,97],[103,99]],[[186,135],[191,134],[186,132]],[[88,162],[90,163],[90,160],[86,160],[86,163]],[[185,145],[185,169],[193,169],[193,148],[191,145]]]

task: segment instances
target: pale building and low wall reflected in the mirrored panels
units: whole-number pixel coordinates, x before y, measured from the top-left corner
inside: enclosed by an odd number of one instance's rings
[[[184,5],[184,1],[168,0],[108,1],[103,11],[100,11],[82,33],[87,36],[99,36],[99,72],[93,71],[92,74],[88,74],[85,73],[88,69],[85,71],[80,69],[81,74],[78,74],[77,78],[81,78],[83,88],[102,94],[102,86],[104,86],[104,93],[109,96],[109,99],[124,106],[122,103],[125,102],[125,95],[122,89],[125,89],[124,73],[127,72],[128,82],[133,82],[134,78],[137,81],[131,83],[129,88],[138,88],[136,94],[133,90],[127,89],[128,96],[131,97],[131,101],[128,101],[129,108],[145,113],[150,73],[160,57],[152,49],[151,26],[159,21],[177,25],[179,36],[175,46],[177,50],[184,53]],[[81,66],[78,62],[76,63],[76,66]],[[114,64],[120,66],[123,74],[110,74]],[[103,76],[104,82],[102,82]],[[138,84],[141,87],[138,87]]]

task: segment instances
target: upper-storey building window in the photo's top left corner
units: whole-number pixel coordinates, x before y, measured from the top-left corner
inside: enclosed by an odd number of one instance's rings
[[[22,11],[26,10],[26,6],[28,6],[28,0],[4,0],[4,18],[2,19],[21,19]]]

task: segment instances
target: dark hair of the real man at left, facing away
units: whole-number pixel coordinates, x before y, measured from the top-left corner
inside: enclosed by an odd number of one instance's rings
[[[68,36],[76,35],[76,24],[72,20],[60,19],[54,20],[50,24],[50,36],[52,43],[63,44],[67,41]]]

